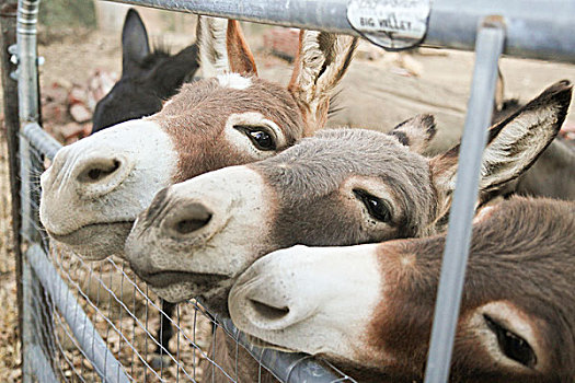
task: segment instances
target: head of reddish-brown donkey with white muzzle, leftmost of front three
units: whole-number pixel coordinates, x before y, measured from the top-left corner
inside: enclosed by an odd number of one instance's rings
[[[301,35],[286,89],[256,77],[238,22],[226,30],[221,20],[203,19],[200,63],[204,76],[215,78],[183,85],[153,116],[62,148],[42,176],[41,220],[48,234],[90,259],[122,253],[137,214],[161,188],[268,158],[320,128],[357,40]]]

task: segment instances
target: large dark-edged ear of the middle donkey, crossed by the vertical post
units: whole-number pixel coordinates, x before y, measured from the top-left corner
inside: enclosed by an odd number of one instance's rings
[[[563,80],[490,129],[483,152],[480,193],[495,194],[527,171],[557,135],[571,103],[573,85]],[[439,190],[455,188],[459,146],[432,160]]]

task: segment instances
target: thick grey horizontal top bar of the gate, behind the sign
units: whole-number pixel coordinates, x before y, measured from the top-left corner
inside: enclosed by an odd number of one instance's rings
[[[106,1],[358,35],[347,21],[349,0]],[[383,1],[367,1],[379,2]],[[424,44],[473,50],[482,20],[499,15],[507,27],[506,55],[575,63],[574,14],[575,2],[570,0],[434,0]]]

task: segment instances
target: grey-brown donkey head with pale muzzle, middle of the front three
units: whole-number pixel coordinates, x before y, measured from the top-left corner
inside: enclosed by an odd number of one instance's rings
[[[572,86],[560,82],[491,129],[482,198],[515,179],[557,134]],[[162,190],[126,243],[130,265],[170,301],[198,295],[225,310],[233,279],[260,256],[295,244],[352,245],[442,231],[458,148],[421,150],[430,116],[391,135],[324,130],[253,164]]]

